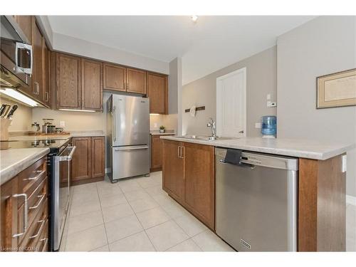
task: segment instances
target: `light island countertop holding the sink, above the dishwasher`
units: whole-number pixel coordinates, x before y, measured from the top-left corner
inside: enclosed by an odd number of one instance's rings
[[[330,144],[328,142],[297,140],[297,139],[269,139],[262,137],[241,137],[231,140],[194,140],[177,136],[162,136],[162,139],[192,142],[201,145],[211,145],[214,147],[226,147],[253,152],[262,152],[274,155],[284,155],[290,157],[303,157],[307,159],[329,159],[356,147],[353,144]]]

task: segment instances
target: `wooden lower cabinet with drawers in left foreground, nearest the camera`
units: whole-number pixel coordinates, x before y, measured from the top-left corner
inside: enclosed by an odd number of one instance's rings
[[[48,251],[46,156],[2,184],[0,190],[0,251]]]

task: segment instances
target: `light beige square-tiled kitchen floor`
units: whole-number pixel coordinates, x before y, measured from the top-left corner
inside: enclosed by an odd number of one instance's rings
[[[356,251],[356,206],[347,205],[346,248]],[[150,177],[73,187],[61,251],[234,251]]]

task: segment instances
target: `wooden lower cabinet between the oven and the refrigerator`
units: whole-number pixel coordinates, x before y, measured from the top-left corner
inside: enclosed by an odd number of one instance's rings
[[[105,177],[105,137],[73,137],[71,184],[85,184]]]

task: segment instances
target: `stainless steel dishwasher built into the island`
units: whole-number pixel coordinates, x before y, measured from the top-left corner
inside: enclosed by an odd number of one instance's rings
[[[296,251],[298,159],[216,148],[216,234],[237,251]]]

